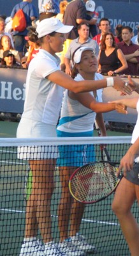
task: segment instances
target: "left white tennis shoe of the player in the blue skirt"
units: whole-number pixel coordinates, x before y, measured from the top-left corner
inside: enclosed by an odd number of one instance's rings
[[[63,242],[59,243],[59,249],[64,252],[66,256],[82,256],[85,252],[81,252],[73,243],[71,243],[71,238],[65,239]]]

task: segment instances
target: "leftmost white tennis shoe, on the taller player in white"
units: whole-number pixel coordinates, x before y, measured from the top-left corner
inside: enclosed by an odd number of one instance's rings
[[[43,256],[44,246],[39,240],[24,241],[19,256]]]

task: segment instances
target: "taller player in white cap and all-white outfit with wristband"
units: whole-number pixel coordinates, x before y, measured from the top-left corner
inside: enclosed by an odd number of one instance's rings
[[[26,99],[17,129],[18,138],[56,136],[55,128],[61,109],[63,88],[76,93],[113,86],[116,90],[131,94],[131,87],[120,77],[77,82],[59,70],[59,58],[55,53],[62,51],[64,33],[68,33],[72,28],[72,26],[64,26],[54,18],[41,20],[36,28],[36,37],[40,38],[41,49],[31,60],[27,70]],[[45,148],[43,152],[40,148],[25,150],[27,154],[22,152],[20,157],[29,159],[33,172],[33,188],[27,201],[25,239],[20,256],[65,255],[54,243],[51,232],[50,202],[54,191],[56,156],[53,154],[51,158],[50,152],[45,152]],[[44,251],[36,242],[38,228],[45,244]]]

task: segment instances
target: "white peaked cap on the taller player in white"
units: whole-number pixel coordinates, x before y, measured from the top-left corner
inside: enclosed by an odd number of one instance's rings
[[[69,33],[72,28],[73,26],[66,26],[57,18],[52,17],[50,19],[41,20],[36,28],[36,32],[38,33],[38,38],[41,38],[52,32]]]

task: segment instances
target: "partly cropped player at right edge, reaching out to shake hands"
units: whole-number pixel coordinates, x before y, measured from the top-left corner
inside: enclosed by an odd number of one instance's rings
[[[139,98],[115,100],[129,108],[135,108],[138,118],[133,130],[131,147],[121,159],[119,173],[123,170],[124,177],[117,186],[112,209],[121,224],[122,232],[129,246],[131,256],[138,256],[139,252],[139,228],[135,217],[131,213],[131,206],[135,200],[139,204]]]

